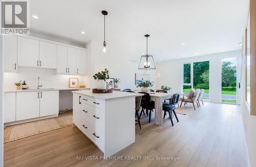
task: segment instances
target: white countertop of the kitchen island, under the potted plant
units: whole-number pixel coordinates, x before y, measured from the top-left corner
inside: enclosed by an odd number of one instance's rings
[[[81,91],[72,91],[72,92],[93,97],[93,98],[103,99],[103,100],[143,96],[143,94],[141,93],[124,92],[124,91],[113,91],[112,93],[93,93],[92,90],[81,90]]]

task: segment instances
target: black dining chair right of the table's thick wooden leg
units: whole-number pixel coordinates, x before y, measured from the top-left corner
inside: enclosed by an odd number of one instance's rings
[[[170,122],[172,123],[173,126],[174,126],[174,122],[173,122],[172,112],[174,112],[174,116],[176,117],[177,122],[179,122],[179,119],[175,112],[175,105],[178,103],[179,97],[180,97],[180,94],[175,93],[173,95],[172,101],[170,101],[169,104],[167,104],[167,103],[163,104],[163,110],[164,110],[163,118],[165,118],[166,112],[168,112],[169,117],[170,117]]]

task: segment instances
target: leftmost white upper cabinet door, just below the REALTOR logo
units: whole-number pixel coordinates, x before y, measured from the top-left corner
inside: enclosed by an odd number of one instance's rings
[[[17,36],[3,36],[4,70],[17,71]]]

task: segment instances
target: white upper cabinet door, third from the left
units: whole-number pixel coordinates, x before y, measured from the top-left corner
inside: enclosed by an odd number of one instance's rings
[[[39,66],[57,68],[57,45],[39,41]]]

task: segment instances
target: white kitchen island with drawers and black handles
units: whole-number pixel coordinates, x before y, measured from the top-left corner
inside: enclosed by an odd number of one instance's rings
[[[142,95],[73,91],[73,123],[111,156],[135,142],[135,97]]]

